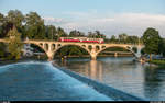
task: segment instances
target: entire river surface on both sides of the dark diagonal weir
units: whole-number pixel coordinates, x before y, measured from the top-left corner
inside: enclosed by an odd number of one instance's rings
[[[132,57],[55,60],[62,67],[140,98],[165,101],[165,68],[134,62]],[[77,91],[78,88],[78,91]],[[51,62],[0,66],[0,100],[111,100]]]

